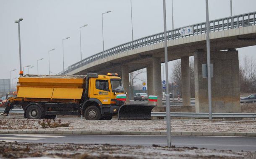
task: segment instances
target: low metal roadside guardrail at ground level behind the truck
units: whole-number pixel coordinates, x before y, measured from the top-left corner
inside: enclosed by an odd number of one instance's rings
[[[3,112],[4,109],[1,108],[0,112]],[[23,109],[12,109],[10,113],[24,113]],[[194,112],[171,112],[171,117],[209,117],[209,113],[194,113]],[[166,117],[166,112],[151,112],[152,117]],[[212,117],[248,117],[256,118],[255,113],[212,113]]]

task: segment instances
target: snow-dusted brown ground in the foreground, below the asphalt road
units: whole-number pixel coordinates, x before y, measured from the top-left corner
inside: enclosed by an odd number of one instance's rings
[[[254,159],[256,153],[188,147],[0,142],[0,158],[50,159]],[[36,158],[41,157],[41,158]]]

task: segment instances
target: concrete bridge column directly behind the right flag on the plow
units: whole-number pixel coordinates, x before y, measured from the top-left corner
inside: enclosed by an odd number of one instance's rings
[[[161,60],[160,57],[153,57],[153,90],[157,96],[157,106],[162,106],[162,81],[161,81]],[[155,102],[154,102],[155,103]]]

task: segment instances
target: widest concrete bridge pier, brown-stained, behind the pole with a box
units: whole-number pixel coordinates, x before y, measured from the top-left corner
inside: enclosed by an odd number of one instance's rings
[[[194,55],[196,112],[209,112],[207,78],[202,77],[206,52]],[[212,112],[240,112],[238,51],[211,52],[213,64]]]

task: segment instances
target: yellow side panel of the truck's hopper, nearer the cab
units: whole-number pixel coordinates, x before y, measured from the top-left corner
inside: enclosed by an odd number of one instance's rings
[[[81,99],[83,89],[54,88],[52,99]]]

